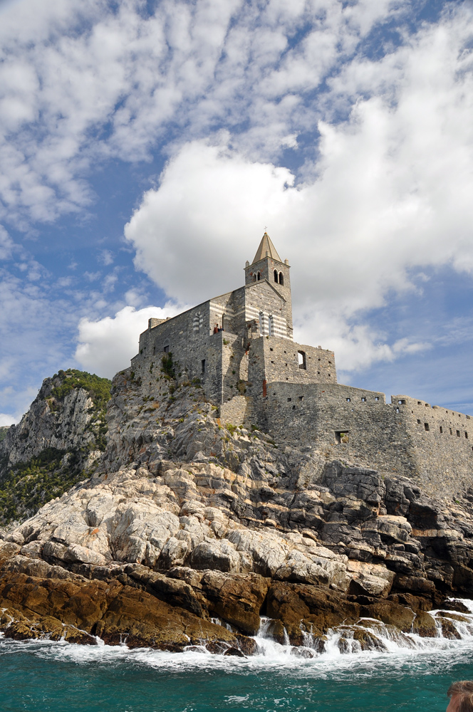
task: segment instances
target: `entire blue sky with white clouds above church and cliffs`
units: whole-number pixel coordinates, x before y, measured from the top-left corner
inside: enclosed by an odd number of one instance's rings
[[[473,4],[0,0],[0,425],[264,229],[338,380],[473,414]]]

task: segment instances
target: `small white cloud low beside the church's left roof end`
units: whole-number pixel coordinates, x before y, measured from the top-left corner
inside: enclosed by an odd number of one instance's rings
[[[139,310],[127,306],[114,317],[96,321],[83,318],[79,322],[76,360],[83,369],[112,378],[118,371],[128,368],[130,359],[137,354],[138,337],[147,329],[148,319],[165,319],[179,312],[179,307],[168,303],[162,308]]]

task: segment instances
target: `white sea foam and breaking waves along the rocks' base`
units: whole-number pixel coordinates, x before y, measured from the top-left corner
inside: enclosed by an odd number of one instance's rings
[[[473,601],[462,600],[469,613],[459,614],[466,621],[450,619],[459,639],[442,637],[438,611],[430,612],[437,621],[437,637],[424,638],[413,632],[400,633],[376,619],[360,619],[358,624],[341,626],[327,634],[325,650],[317,651],[317,641],[311,632],[304,632],[304,646],[293,648],[286,639],[280,644],[269,637],[269,619],[261,619],[261,627],[254,637],[258,653],[246,658],[215,655],[201,646],[189,646],[183,653],[168,653],[147,648],[128,649],[126,645],[109,646],[98,640],[94,646],[34,640],[17,642],[0,639],[1,654],[33,654],[43,659],[94,666],[144,666],[152,669],[183,671],[222,670],[232,674],[251,674],[274,671],[316,678],[346,679],[357,676],[389,676],[416,674],[427,667],[430,674],[445,672],[449,667],[473,662]],[[455,614],[455,612],[452,612]],[[383,644],[384,650],[361,650],[353,637],[356,630],[369,631]],[[343,637],[343,646],[340,645]],[[342,649],[345,652],[341,652]]]

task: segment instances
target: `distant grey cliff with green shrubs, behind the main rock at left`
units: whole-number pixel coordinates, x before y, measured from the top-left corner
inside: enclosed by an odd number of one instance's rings
[[[0,440],[0,524],[33,514],[87,476],[105,449],[110,381],[69,369],[43,381]]]

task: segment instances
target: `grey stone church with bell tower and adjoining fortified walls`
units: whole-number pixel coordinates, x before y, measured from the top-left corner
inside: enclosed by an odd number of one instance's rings
[[[332,351],[293,342],[289,262],[265,233],[245,285],[175,318],[150,319],[132,370],[159,375],[172,354],[178,379],[199,379],[222,422],[267,429],[328,459],[415,478],[432,493],[473,486],[468,415],[404,395],[337,383]]]

